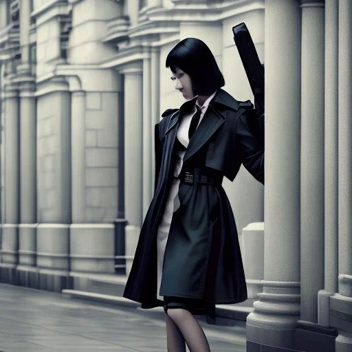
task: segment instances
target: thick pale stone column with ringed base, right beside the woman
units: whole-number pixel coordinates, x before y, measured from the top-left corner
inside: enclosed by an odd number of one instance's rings
[[[292,348],[300,315],[300,24],[297,1],[266,1],[264,280],[248,352]]]

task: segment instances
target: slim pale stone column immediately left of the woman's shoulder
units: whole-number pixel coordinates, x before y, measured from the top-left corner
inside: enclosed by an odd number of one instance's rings
[[[149,53],[146,52],[149,56]],[[127,93],[128,94],[128,93]],[[152,133],[151,118],[151,58],[143,59],[143,209],[142,217],[146,216],[152,197]]]

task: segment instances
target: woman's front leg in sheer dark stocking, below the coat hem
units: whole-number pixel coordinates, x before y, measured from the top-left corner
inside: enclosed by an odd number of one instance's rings
[[[190,352],[210,352],[210,347],[203,329],[195,320],[194,316],[182,308],[168,308],[166,318],[170,318],[181,331]],[[174,351],[174,350],[169,350]],[[175,350],[178,351],[178,350]],[[181,351],[181,350],[179,350]]]

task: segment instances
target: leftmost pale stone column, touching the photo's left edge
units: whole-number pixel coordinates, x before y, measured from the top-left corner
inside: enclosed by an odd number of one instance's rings
[[[5,219],[1,239],[2,281],[17,283],[19,250],[19,96],[17,86],[8,83],[3,93],[5,119]],[[5,278],[5,280],[4,280]]]

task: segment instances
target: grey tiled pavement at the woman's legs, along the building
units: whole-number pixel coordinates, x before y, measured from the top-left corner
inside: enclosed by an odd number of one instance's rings
[[[201,325],[212,352],[245,351],[236,327]],[[0,351],[166,352],[165,322],[146,309],[0,284]]]

